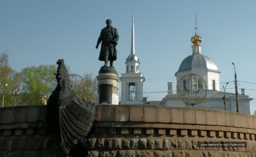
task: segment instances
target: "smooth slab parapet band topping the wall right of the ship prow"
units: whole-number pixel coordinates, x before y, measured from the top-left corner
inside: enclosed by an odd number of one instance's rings
[[[97,105],[96,121],[220,125],[256,129],[256,116],[198,108]]]

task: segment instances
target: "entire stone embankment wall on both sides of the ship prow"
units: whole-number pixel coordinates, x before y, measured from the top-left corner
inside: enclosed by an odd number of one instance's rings
[[[0,108],[0,157],[62,157],[46,134],[46,106]],[[194,108],[97,105],[84,144],[89,156],[256,156],[256,117]],[[197,141],[247,142],[246,148],[198,147]]]

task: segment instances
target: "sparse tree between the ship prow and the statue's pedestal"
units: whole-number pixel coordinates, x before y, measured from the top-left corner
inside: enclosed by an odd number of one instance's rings
[[[97,78],[92,73],[85,73],[75,88],[76,94],[87,102],[95,103],[97,101]]]

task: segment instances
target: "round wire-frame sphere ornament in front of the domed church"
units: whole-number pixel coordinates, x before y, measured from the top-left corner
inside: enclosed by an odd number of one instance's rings
[[[177,94],[187,106],[205,102],[206,90],[204,78],[194,73],[183,76],[177,84]]]

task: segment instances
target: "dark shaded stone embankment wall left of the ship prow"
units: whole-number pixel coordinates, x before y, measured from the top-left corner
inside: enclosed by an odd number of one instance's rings
[[[45,116],[45,105],[0,108],[0,157],[63,156]]]

